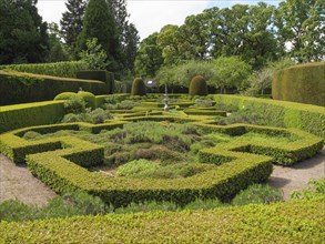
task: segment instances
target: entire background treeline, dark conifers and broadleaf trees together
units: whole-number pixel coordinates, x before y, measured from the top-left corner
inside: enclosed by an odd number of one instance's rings
[[[65,6],[59,27],[42,21],[37,0],[0,0],[0,64],[81,59],[88,69],[113,71],[123,91],[136,75],[185,92],[182,88],[201,74],[211,92],[264,95],[274,71],[324,60],[322,0],[214,7],[140,43],[125,0]]]

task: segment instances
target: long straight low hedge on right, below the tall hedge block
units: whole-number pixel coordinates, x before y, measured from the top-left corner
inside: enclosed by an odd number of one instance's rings
[[[325,138],[325,108],[256,99],[240,95],[213,95],[216,103],[231,104],[240,110],[250,109],[267,121],[271,126],[296,128]]]

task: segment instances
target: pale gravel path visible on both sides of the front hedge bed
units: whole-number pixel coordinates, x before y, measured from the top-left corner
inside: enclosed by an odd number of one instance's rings
[[[292,191],[305,189],[311,177],[324,176],[325,148],[313,159],[292,167],[274,166],[268,184],[282,189],[287,200]],[[44,205],[54,196],[55,193],[33,177],[26,165],[16,165],[0,154],[0,202],[17,199],[28,204]]]

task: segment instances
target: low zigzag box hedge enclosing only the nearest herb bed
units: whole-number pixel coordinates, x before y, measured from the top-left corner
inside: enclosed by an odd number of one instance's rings
[[[81,167],[80,165],[95,165],[103,160],[103,157],[100,159],[99,154],[99,152],[102,152],[102,149],[92,143],[82,143],[81,140],[70,136],[32,142],[19,138],[19,135],[21,136],[24,132],[31,130],[35,132],[44,132],[47,130],[53,132],[68,128],[72,130],[84,130],[84,128],[88,128],[87,130],[93,131],[97,128],[95,130],[100,131],[102,129],[110,130],[122,126],[125,122],[114,121],[101,125],[74,123],[22,129],[2,134],[0,139],[0,151],[14,162],[22,162],[27,159],[29,170],[32,174],[55,192],[78,189],[98,195],[114,206],[150,200],[172,201],[177,204],[186,204],[196,197],[227,200],[250,184],[265,181],[272,173],[272,162],[274,161],[272,157],[246,152],[267,154],[274,157],[280,157],[278,155],[282,155],[282,152],[286,152],[282,149],[272,148],[271,145],[255,145],[253,143],[237,144],[217,150],[215,148],[206,149],[200,152],[200,157],[202,163],[215,164],[213,170],[201,172],[185,179],[140,180],[108,177],[106,175],[89,172]],[[287,164],[308,157],[323,146],[322,139],[301,131],[244,124],[230,126],[204,125],[202,122],[201,126],[206,126],[206,130],[210,131],[219,131],[221,128],[230,128],[230,131],[232,131],[237,126],[242,134],[250,130],[267,132],[270,134],[294,134],[297,136],[297,142],[293,142],[293,144],[288,143],[288,153],[284,155],[286,159],[293,157],[290,162],[285,161],[285,163],[288,162]],[[44,152],[48,150],[55,151]],[[24,157],[26,155],[27,157]],[[282,160],[282,157],[280,159]]]

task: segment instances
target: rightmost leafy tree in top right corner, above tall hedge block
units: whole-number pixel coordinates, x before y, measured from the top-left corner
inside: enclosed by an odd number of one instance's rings
[[[275,26],[282,47],[298,62],[321,61],[325,53],[325,2],[287,0],[276,9]]]

